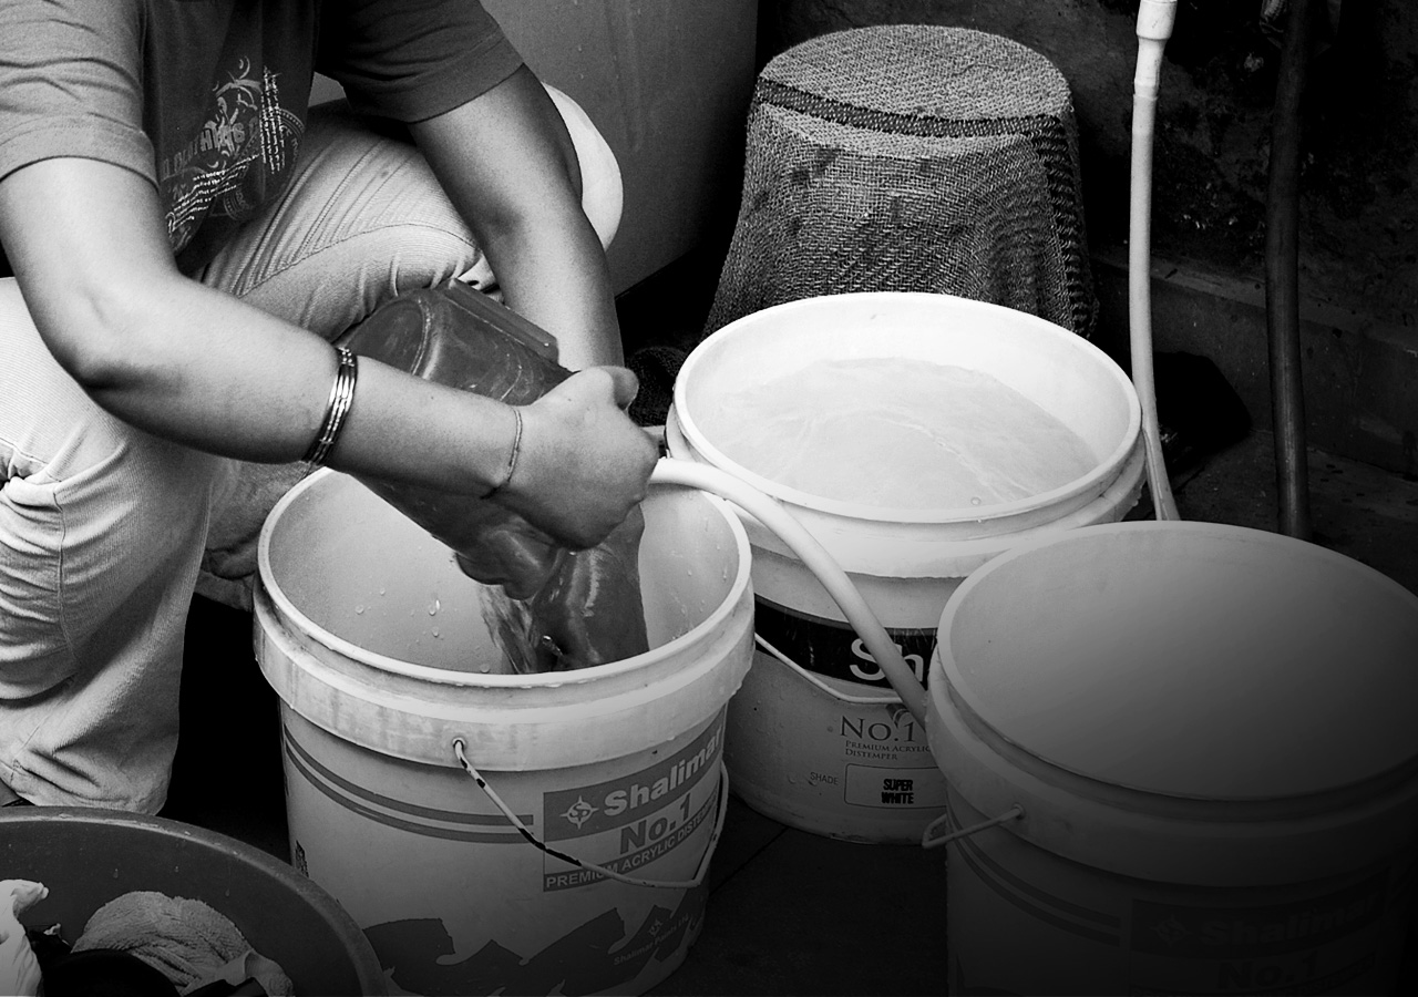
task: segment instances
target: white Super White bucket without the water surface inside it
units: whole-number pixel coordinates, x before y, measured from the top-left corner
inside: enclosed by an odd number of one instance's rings
[[[868,508],[780,485],[737,464],[703,417],[725,394],[818,360],[910,357],[980,370],[1078,433],[1098,457],[1051,492],[968,509]],[[675,383],[671,457],[777,499],[841,564],[916,676],[940,611],[970,572],[1017,543],[1120,519],[1143,479],[1132,381],[1102,350],[1044,319],[937,294],[844,294],[777,305],[708,336]],[[832,459],[824,454],[824,459]],[[919,842],[946,807],[925,732],[817,579],[749,515],[759,650],[729,706],[733,790],[784,824],[837,838]]]

